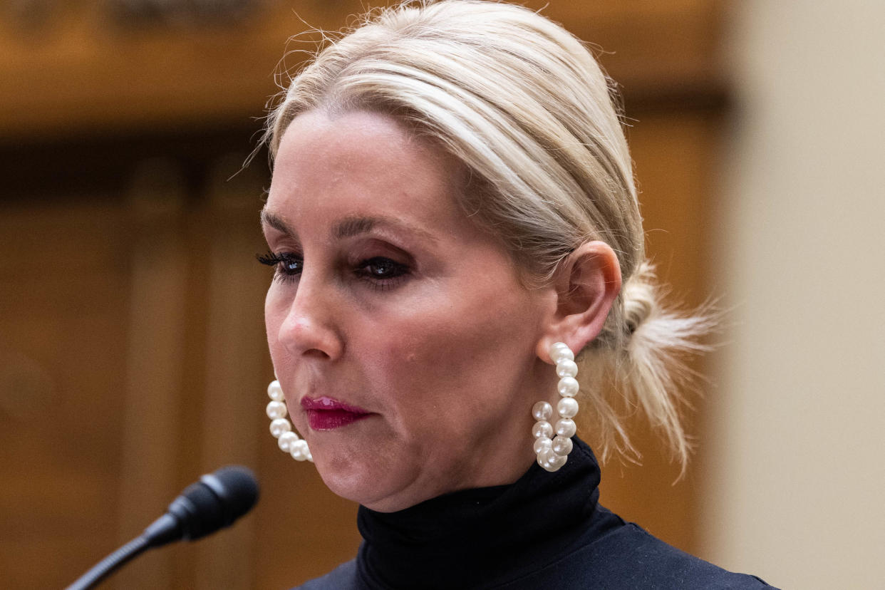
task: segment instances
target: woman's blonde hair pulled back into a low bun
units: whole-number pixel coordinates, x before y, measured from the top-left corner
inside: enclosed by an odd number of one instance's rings
[[[579,357],[596,441],[634,452],[624,427],[642,410],[683,468],[689,456],[677,381],[681,352],[703,349],[704,319],[661,308],[645,259],[632,162],[612,84],[573,34],[534,11],[477,0],[405,2],[366,15],[292,78],[269,117],[276,153],[298,114],[388,113],[464,163],[465,211],[543,284],[589,240],[616,252],[624,286]],[[586,381],[587,379],[583,379]]]

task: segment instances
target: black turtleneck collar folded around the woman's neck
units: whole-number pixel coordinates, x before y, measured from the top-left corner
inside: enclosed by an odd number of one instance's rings
[[[360,506],[359,577],[372,588],[498,586],[567,555],[579,538],[602,534],[596,510],[599,465],[577,437],[568,462],[537,464],[515,483],[446,494],[383,513]],[[592,531],[599,528],[599,531]],[[477,572],[482,572],[480,578]]]

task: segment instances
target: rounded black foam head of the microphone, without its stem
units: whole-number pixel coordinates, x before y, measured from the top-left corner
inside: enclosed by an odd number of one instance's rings
[[[195,540],[231,525],[258,501],[258,481],[252,471],[228,465],[186,487],[171,504],[180,539]]]

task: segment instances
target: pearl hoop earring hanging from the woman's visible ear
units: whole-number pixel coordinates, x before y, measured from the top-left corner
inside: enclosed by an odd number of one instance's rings
[[[535,454],[538,464],[547,471],[558,471],[566,464],[568,454],[572,452],[572,437],[577,431],[574,425],[578,413],[578,401],[574,396],[578,393],[578,365],[574,363],[574,353],[565,342],[557,342],[550,347],[550,359],[556,363],[559,376],[557,389],[562,399],[557,403],[559,419],[556,425],[550,425],[553,418],[553,406],[549,402],[537,402],[532,406],[532,417],[537,420],[532,426],[535,438]],[[554,437],[554,433],[556,436]]]

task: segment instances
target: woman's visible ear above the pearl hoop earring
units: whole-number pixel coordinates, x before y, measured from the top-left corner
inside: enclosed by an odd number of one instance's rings
[[[566,257],[554,275],[556,310],[545,320],[536,354],[550,361],[550,346],[565,342],[575,353],[602,331],[620,293],[620,264],[604,241],[586,241]]]

